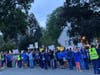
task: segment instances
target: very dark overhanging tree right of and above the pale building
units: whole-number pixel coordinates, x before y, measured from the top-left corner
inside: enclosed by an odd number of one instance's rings
[[[69,30],[71,37],[86,36],[89,42],[95,37],[100,37],[100,12],[97,12],[98,7],[100,7],[99,4],[99,0],[82,3],[80,3],[80,0],[66,0],[64,15],[66,21],[72,23],[72,29]]]

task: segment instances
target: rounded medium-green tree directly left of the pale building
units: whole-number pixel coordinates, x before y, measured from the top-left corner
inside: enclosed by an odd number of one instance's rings
[[[60,35],[61,28],[63,25],[65,25],[65,17],[63,14],[63,8],[58,7],[56,10],[54,10],[47,19],[46,23],[46,32],[44,33],[46,39],[48,39],[48,44],[58,44],[57,39]]]

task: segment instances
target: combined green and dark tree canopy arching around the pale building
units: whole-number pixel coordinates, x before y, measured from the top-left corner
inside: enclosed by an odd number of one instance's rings
[[[54,10],[47,19],[45,38],[51,43],[57,39],[66,25],[71,22],[70,37],[86,36],[88,41],[100,37],[100,0],[66,0],[64,6]]]

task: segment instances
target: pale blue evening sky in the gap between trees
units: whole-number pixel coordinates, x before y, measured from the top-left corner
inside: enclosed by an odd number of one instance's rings
[[[35,0],[30,12],[34,13],[41,27],[46,26],[47,15],[57,7],[63,6],[65,0]]]

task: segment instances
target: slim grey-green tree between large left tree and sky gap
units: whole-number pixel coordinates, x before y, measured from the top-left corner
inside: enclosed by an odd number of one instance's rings
[[[30,28],[30,36],[33,36],[35,42],[38,42],[40,45],[40,37],[42,35],[41,28],[34,14],[30,14],[28,17],[28,26]]]

